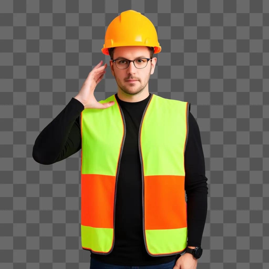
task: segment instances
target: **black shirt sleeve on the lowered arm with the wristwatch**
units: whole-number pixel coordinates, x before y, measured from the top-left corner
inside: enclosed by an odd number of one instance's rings
[[[207,178],[199,126],[189,111],[189,133],[185,149],[188,246],[201,247],[207,215]]]

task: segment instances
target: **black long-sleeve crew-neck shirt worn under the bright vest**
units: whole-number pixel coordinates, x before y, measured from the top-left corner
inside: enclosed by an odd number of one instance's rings
[[[141,118],[151,93],[139,102],[116,100],[126,122],[126,136],[119,168],[116,207],[115,244],[110,254],[91,253],[104,263],[118,265],[154,265],[167,263],[180,254],[150,256],[144,245],[142,223],[142,178],[138,150]],[[81,149],[80,113],[84,105],[72,98],[66,107],[38,135],[33,158],[40,164],[53,164]],[[207,214],[207,178],[198,124],[189,111],[189,133],[185,149],[185,190],[187,196],[188,246],[201,246]]]

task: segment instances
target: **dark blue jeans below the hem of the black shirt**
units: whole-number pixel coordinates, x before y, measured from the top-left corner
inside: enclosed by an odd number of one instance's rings
[[[97,261],[97,260],[91,258],[90,269],[93,269],[93,268],[98,268],[98,269],[111,269],[111,268],[114,268],[114,269],[123,269],[123,268],[131,268],[131,269],[167,268],[167,269],[173,269],[177,260],[178,259],[176,258],[175,260],[169,261],[168,263],[162,263],[162,264],[156,264],[156,265],[125,266],[125,265],[113,265],[113,264],[108,264],[108,263],[102,263],[101,261]]]

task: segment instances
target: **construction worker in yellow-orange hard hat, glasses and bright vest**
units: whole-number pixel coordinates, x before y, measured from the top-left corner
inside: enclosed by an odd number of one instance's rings
[[[199,127],[189,102],[149,93],[160,51],[150,20],[122,12],[102,48],[118,92],[95,99],[107,68],[101,61],[33,147],[42,164],[81,149],[81,240],[90,268],[195,269],[202,254],[208,188]]]

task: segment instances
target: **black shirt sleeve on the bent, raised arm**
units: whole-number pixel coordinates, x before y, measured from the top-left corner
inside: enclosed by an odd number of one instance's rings
[[[38,135],[32,156],[40,164],[53,164],[81,149],[80,113],[84,105],[73,98]]]

